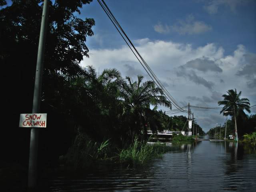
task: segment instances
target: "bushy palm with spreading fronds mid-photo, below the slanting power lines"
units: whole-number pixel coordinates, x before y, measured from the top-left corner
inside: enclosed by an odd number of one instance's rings
[[[161,88],[156,87],[153,81],[142,83],[144,76],[138,75],[138,82],[132,82],[126,76],[128,83],[122,83],[120,87],[120,98],[124,102],[126,113],[130,114],[130,134],[140,134],[144,130],[146,115],[150,116],[148,110],[150,105],[163,105],[171,108],[171,102],[166,99]]]

